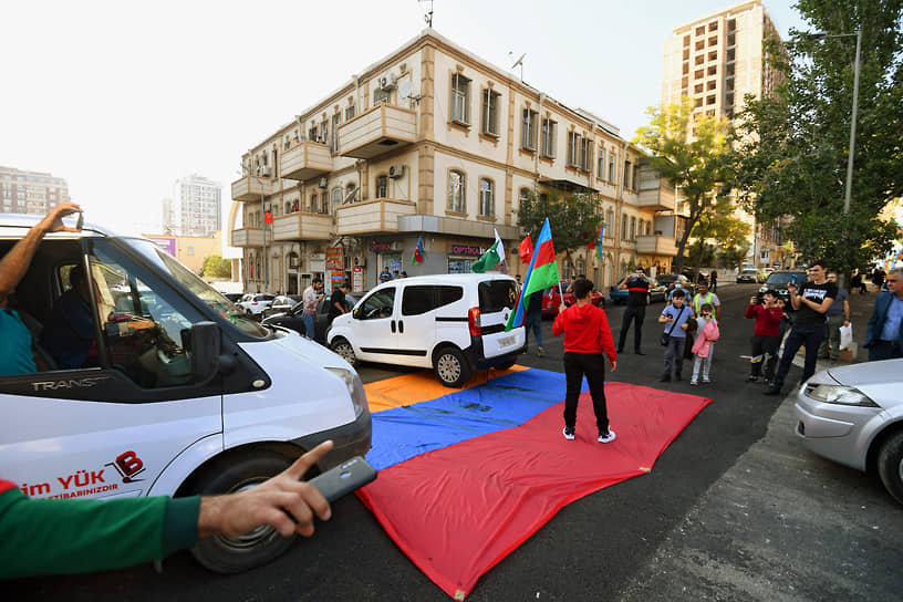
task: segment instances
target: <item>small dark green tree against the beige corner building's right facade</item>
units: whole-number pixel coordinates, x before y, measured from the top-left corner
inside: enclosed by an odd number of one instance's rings
[[[552,190],[547,198],[530,194],[516,212],[520,227],[533,242],[548,217],[556,252],[563,252],[570,259],[572,251],[599,238],[599,225],[602,224],[599,206],[595,195],[575,193],[561,197]]]

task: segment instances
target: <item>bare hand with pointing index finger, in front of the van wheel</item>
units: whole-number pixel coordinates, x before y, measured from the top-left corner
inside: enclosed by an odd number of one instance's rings
[[[322,494],[301,477],[332,449],[332,445],[331,440],[321,443],[257,487],[227,496],[200,498],[198,537],[240,536],[263,525],[272,526],[284,537],[295,532],[312,536],[313,516],[329,520],[332,512]]]

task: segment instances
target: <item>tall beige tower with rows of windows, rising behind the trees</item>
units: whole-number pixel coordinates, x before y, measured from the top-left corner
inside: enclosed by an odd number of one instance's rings
[[[762,42],[780,39],[761,0],[750,0],[675,28],[664,43],[662,102],[679,103],[688,96],[695,114],[733,120],[743,110],[744,96],[775,94],[781,74],[767,62]],[[695,131],[687,133],[693,138]],[[681,207],[678,205],[678,211]],[[752,226],[749,262],[780,264],[783,250],[779,228],[756,224],[754,216],[737,209]]]

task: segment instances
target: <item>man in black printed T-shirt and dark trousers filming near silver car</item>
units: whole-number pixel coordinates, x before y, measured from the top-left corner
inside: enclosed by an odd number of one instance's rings
[[[793,328],[783,342],[783,355],[775,375],[775,382],[765,391],[765,395],[778,395],[783,380],[793,363],[799,347],[806,345],[806,364],[802,369],[802,382],[816,373],[818,347],[824,339],[824,313],[837,299],[837,284],[828,280],[824,261],[816,261],[809,267],[809,281],[803,283],[790,281],[787,284],[793,314]]]

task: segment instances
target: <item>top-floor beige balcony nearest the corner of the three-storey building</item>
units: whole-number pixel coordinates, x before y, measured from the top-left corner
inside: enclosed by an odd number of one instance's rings
[[[339,126],[339,154],[372,159],[411,144],[417,136],[416,117],[409,108],[380,103]]]

